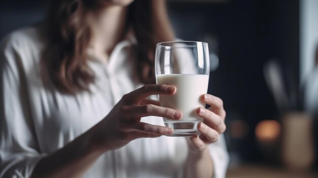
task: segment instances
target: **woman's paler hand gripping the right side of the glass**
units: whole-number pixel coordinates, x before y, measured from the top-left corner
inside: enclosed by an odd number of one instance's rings
[[[204,119],[198,125],[201,134],[200,136],[190,137],[188,140],[190,150],[196,152],[206,150],[208,145],[217,141],[219,135],[226,130],[224,123],[226,112],[223,108],[223,101],[210,94],[204,94],[200,99],[211,106],[208,109],[202,107],[197,109],[198,116]]]

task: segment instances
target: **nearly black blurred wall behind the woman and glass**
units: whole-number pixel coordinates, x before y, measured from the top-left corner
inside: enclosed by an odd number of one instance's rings
[[[46,1],[0,2],[0,39],[8,32],[43,19]],[[271,58],[289,68],[299,83],[299,1],[233,0],[216,2],[168,1],[177,37],[211,40],[219,66],[210,74],[209,93],[221,97],[227,124],[247,124],[245,137],[226,133],[228,149],[243,161],[262,161],[255,138],[261,120],[279,117],[263,75]],[[233,156],[232,155],[232,156]]]

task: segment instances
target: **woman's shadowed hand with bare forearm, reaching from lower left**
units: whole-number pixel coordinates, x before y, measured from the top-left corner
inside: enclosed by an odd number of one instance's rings
[[[180,119],[179,111],[145,99],[153,94],[172,95],[175,92],[176,87],[170,85],[146,85],[124,95],[101,122],[42,158],[31,177],[81,177],[105,151],[118,149],[136,138],[172,134],[171,128],[146,124],[140,122],[140,118]]]

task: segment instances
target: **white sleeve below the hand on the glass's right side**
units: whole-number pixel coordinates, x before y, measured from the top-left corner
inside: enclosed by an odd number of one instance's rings
[[[224,139],[224,134],[221,134],[219,139],[215,143],[209,145],[209,151],[213,160],[213,177],[226,177],[226,172],[228,169],[230,158]]]

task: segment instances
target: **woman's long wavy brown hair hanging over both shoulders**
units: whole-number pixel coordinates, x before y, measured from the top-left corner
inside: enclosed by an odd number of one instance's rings
[[[52,0],[45,31],[48,45],[42,64],[54,87],[63,93],[89,91],[94,72],[88,66],[87,48],[91,30],[86,13],[105,7],[105,0]],[[137,40],[136,72],[140,82],[154,83],[155,45],[173,41],[163,0],[136,0],[126,16],[125,29],[133,29]]]

